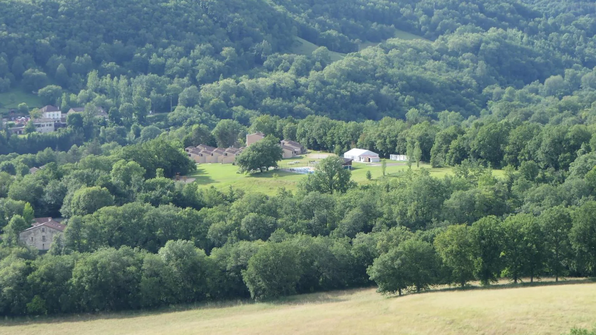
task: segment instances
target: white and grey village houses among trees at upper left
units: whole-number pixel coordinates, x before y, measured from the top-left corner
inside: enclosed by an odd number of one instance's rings
[[[58,128],[66,127],[66,117],[69,113],[80,113],[85,110],[85,107],[73,107],[70,108],[67,113],[62,113],[60,108],[56,106],[44,106],[39,111],[41,112],[41,117],[39,119],[33,119],[33,125],[35,125],[35,129],[37,132],[45,133],[45,132],[54,132]],[[97,113],[95,117],[101,119],[107,119],[108,113],[101,107],[97,108]],[[9,128],[12,134],[24,134],[25,126],[29,122],[29,117],[21,117],[16,120],[15,126]]]

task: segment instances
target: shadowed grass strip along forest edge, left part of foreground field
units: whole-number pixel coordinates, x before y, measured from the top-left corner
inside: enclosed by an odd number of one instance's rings
[[[233,308],[238,306],[255,305],[257,303],[262,305],[284,306],[284,305],[306,305],[306,304],[320,304],[342,302],[347,300],[344,296],[353,294],[356,291],[364,289],[350,289],[340,291],[326,291],[319,293],[297,294],[296,296],[280,297],[276,300],[267,300],[263,302],[254,302],[252,299],[237,299],[226,300],[219,302],[197,302],[180,305],[170,305],[155,309],[137,309],[134,311],[118,311],[118,312],[97,312],[97,313],[78,313],[78,314],[55,314],[55,315],[41,315],[38,317],[5,317],[0,321],[0,327],[11,327],[27,324],[59,324],[63,322],[81,322],[81,321],[95,321],[95,320],[113,320],[126,318],[151,317],[153,315],[161,315],[175,312],[200,311],[202,309],[221,309]]]

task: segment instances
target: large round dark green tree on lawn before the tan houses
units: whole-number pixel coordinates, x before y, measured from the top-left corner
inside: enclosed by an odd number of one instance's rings
[[[263,172],[277,168],[277,162],[283,157],[280,140],[272,135],[255,142],[236,157],[240,172]]]

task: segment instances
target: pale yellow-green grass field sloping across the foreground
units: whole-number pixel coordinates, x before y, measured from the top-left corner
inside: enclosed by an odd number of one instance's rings
[[[5,321],[0,334],[543,334],[596,326],[596,283],[445,290],[385,297],[374,289],[221,303],[186,311]]]

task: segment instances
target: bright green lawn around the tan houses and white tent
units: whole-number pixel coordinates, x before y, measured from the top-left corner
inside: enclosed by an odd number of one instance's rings
[[[291,159],[281,160],[280,168],[291,168],[297,166],[306,166],[309,161],[320,160],[330,154],[327,153],[311,153]],[[297,164],[290,165],[288,163],[299,161]],[[368,163],[353,163],[352,164],[352,180],[359,184],[370,184],[378,181],[378,178],[383,176],[380,163],[370,165]],[[412,165],[412,170],[419,170],[425,168],[429,170],[430,175],[436,178],[443,178],[445,175],[452,175],[451,168],[431,168],[429,164],[421,164],[418,168],[415,164]],[[372,180],[366,177],[367,171],[370,170],[373,175]],[[408,166],[403,162],[387,161],[386,175],[391,177],[400,176],[406,173]],[[306,178],[306,175],[294,172],[286,172],[283,170],[274,170],[263,173],[254,173],[252,175],[240,174],[238,167],[231,164],[200,164],[197,165],[197,172],[194,175],[188,176],[195,178],[195,182],[206,187],[213,186],[218,190],[225,191],[228,187],[240,188],[245,191],[260,192],[265,194],[275,194],[280,187],[285,187],[287,190],[296,190],[300,179]],[[502,170],[493,170],[493,175],[502,176]]]

